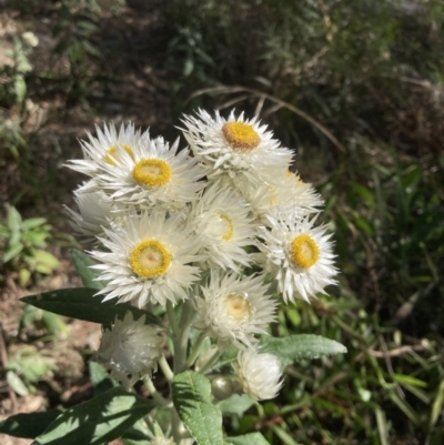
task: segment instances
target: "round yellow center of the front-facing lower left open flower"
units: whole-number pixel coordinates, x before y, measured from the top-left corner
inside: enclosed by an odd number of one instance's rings
[[[130,254],[131,269],[139,276],[155,279],[171,264],[171,253],[157,240],[141,241]]]

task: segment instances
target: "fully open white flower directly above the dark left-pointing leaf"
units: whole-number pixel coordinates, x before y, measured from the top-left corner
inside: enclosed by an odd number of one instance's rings
[[[190,232],[181,214],[168,218],[160,210],[128,216],[119,231],[105,230],[108,239],[100,241],[109,251],[91,252],[102,263],[92,266],[101,271],[99,280],[108,281],[98,294],[119,303],[138,299],[139,307],[188,299],[185,290],[199,279],[199,267],[189,264],[201,260],[199,239]]]

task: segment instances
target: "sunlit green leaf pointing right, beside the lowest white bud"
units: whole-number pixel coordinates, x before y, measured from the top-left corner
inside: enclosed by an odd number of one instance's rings
[[[262,336],[261,353],[271,353],[278,356],[286,366],[294,361],[319,358],[323,355],[345,354],[346,347],[334,340],[321,335],[300,334],[285,338]]]

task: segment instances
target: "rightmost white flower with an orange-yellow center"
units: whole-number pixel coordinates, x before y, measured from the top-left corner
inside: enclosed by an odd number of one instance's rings
[[[285,303],[295,299],[309,301],[329,284],[335,284],[331,235],[325,226],[313,227],[315,219],[293,215],[274,219],[260,227],[264,267],[278,281]]]

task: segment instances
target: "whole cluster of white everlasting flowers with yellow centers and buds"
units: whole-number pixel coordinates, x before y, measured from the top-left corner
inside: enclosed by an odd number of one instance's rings
[[[256,334],[275,320],[279,295],[310,301],[334,283],[332,242],[315,224],[323,201],[256,118],[200,110],[182,124],[189,146],[181,150],[132,124],[89,134],[83,159],[69,162],[90,178],[75,191],[78,210],[68,210],[71,224],[93,241],[89,253],[105,283],[99,294],[139,307],[190,301],[202,335],[220,351],[240,351],[243,391],[272,398],[280,364],[258,353]],[[125,318],[107,331],[98,355],[132,381],[155,367],[159,347],[159,330]]]

